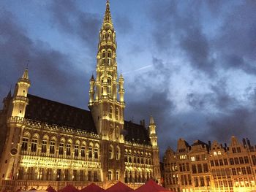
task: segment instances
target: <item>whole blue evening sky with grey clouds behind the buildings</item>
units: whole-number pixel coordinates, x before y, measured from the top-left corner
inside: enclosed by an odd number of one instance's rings
[[[152,113],[161,153],[180,137],[255,141],[256,1],[111,0],[110,10],[126,120]],[[31,94],[88,110],[104,12],[105,0],[1,0],[0,98],[30,60]]]

